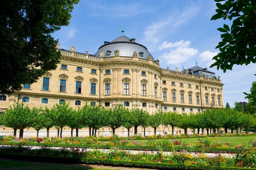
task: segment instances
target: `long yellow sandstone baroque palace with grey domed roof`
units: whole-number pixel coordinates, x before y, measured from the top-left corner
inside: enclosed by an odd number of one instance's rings
[[[70,102],[73,108],[86,102],[106,108],[121,104],[130,109],[143,108],[150,114],[158,109],[196,113],[211,107],[224,108],[220,76],[197,63],[182,71],[160,68],[159,60],[145,46],[124,35],[105,41],[94,55],[88,50],[76,52],[73,46],[70,50],[60,49],[59,44],[57,50],[62,54],[57,69],[46,72],[34,84],[24,84],[21,91],[1,95],[0,112],[14,102],[24,102],[31,108],[51,108],[61,101]],[[80,129],[79,136],[88,136],[88,131]],[[158,134],[165,131],[171,132],[171,128],[165,125],[157,129]],[[0,135],[12,133],[13,129],[0,125]],[[119,128],[115,133],[127,136],[127,129]],[[154,129],[148,127],[146,134],[154,134]],[[26,135],[36,136],[36,131],[27,128]],[[64,128],[63,135],[70,136],[70,129]],[[103,127],[97,135],[110,136],[111,128]],[[39,136],[46,136],[46,130],[40,130]],[[55,128],[50,129],[50,136],[57,136]]]

